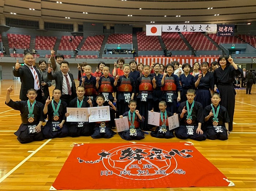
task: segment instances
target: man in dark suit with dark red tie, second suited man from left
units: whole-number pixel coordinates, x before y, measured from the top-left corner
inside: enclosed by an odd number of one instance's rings
[[[55,79],[55,87],[60,89],[62,92],[60,99],[69,105],[69,102],[76,97],[76,85],[74,77],[73,74],[68,72],[69,63],[67,61],[62,61],[60,64],[60,71],[54,72],[54,74],[52,74],[52,70],[53,69],[49,64],[47,77],[51,80]]]

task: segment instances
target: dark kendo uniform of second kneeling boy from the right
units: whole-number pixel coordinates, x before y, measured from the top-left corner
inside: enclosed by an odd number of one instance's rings
[[[179,115],[182,113],[182,109],[186,105],[186,101],[182,102],[180,104],[180,107],[178,108]],[[191,108],[191,104],[189,104],[189,108]],[[186,110],[187,107],[186,107]],[[204,123],[204,110],[202,104],[195,101],[194,107],[192,109],[192,123],[187,123],[187,115],[188,112],[186,112],[183,116],[183,118],[180,120],[180,126],[175,129],[175,135],[179,139],[193,139],[196,141],[203,141],[206,140],[206,133],[203,132],[203,134],[197,134],[196,129],[198,128],[198,123],[200,122],[201,129],[203,130],[203,123]]]

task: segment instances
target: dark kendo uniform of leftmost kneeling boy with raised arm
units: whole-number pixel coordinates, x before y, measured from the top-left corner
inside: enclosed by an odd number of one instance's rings
[[[10,102],[6,105],[11,107],[12,109],[20,111],[22,124],[19,126],[19,129],[14,133],[14,135],[17,136],[17,139],[20,143],[30,143],[33,141],[44,140],[43,133],[42,133],[43,126],[41,126],[41,131],[39,133],[29,128],[29,126],[38,125],[39,121],[44,121],[44,116],[43,116],[44,105],[41,102],[37,101],[34,105],[34,110],[33,110],[34,121],[31,123],[28,121],[29,108],[27,105],[27,101],[14,102],[10,100]]]

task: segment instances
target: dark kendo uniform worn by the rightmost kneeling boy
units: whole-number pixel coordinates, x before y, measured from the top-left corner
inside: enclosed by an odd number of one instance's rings
[[[217,111],[217,108],[214,107],[214,111]],[[212,107],[211,105],[206,106],[204,108],[204,117],[208,116],[211,112]],[[206,129],[206,136],[207,139],[215,140],[227,140],[227,129],[225,127],[225,123],[229,122],[229,115],[227,114],[226,108],[224,108],[222,105],[220,105],[219,113],[218,113],[218,125],[214,126],[212,124],[212,116],[208,119],[208,121],[205,122],[205,129]]]

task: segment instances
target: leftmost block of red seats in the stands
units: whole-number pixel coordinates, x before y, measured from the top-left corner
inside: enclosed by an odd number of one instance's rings
[[[30,35],[7,34],[9,47],[17,49],[29,48]]]

